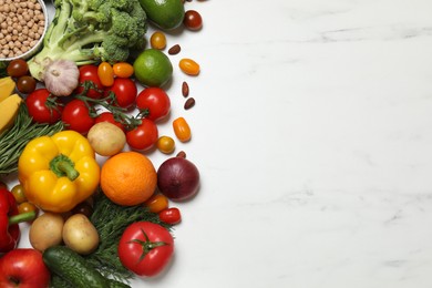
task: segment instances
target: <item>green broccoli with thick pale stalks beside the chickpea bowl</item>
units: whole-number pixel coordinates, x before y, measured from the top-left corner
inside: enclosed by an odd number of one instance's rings
[[[54,7],[43,48],[28,61],[30,73],[40,81],[54,60],[114,63],[145,45],[147,17],[138,0],[55,0]]]

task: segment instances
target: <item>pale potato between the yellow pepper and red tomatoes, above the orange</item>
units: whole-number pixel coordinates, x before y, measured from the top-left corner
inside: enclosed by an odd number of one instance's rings
[[[93,150],[102,156],[115,155],[126,144],[123,130],[110,122],[94,124],[88,133],[88,140]]]

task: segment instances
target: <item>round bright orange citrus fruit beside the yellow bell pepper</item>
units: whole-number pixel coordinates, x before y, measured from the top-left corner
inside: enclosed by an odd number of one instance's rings
[[[112,202],[122,206],[144,203],[155,192],[156,169],[138,152],[121,152],[106,160],[101,169],[101,188]]]

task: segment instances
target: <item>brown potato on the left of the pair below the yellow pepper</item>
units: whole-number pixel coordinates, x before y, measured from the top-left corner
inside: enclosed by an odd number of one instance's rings
[[[64,220],[60,214],[45,212],[33,220],[30,226],[29,240],[31,246],[40,251],[62,243]]]

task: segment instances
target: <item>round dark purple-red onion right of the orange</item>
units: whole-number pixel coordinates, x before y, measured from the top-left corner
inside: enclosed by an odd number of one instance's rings
[[[157,169],[157,187],[171,200],[187,200],[198,192],[199,171],[186,158],[168,158]]]

